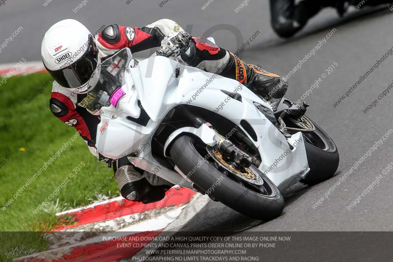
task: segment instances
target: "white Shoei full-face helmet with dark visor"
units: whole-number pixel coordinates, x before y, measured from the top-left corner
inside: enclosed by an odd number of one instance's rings
[[[98,63],[93,35],[80,22],[66,19],[45,33],[41,44],[45,68],[62,87],[86,87]]]

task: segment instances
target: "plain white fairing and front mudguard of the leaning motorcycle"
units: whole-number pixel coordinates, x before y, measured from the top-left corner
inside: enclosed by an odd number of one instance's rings
[[[180,70],[178,77],[176,68]],[[270,105],[235,80],[188,67],[164,57],[151,57],[141,61],[137,67],[129,68],[126,79],[127,84],[122,87],[126,95],[119,100],[117,107],[104,107],[101,110],[96,144],[98,151],[104,156],[117,159],[137,153],[138,157],[129,157],[136,166],[174,184],[191,187],[181,175],[162,167],[152,157],[150,147],[156,128],[168,112],[179,104],[186,104],[212,112],[216,110],[217,114],[231,120],[243,131],[245,130],[241,126],[241,121],[246,120],[256,135],[249,138],[261,154],[262,164],[259,169],[280,190],[288,184],[297,182],[300,175],[308,169],[302,134],[299,132],[287,141],[253,102],[271,109]],[[212,79],[214,81],[211,81]],[[242,96],[242,101],[227,101],[228,96],[222,90],[238,92]],[[126,118],[141,116],[138,100],[150,118],[145,126]],[[217,110],[220,105],[221,108]],[[214,132],[209,133],[207,129],[197,131],[190,127],[172,134],[165,146],[167,147],[182,132],[197,134],[206,142],[217,141]],[[246,131],[245,133],[248,134]]]

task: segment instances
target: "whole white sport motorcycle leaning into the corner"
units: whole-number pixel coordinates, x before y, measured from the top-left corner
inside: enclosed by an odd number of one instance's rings
[[[84,106],[101,117],[97,151],[261,220],[279,216],[299,180],[334,175],[332,139],[308,104],[270,102],[239,82],[128,48],[103,61]]]

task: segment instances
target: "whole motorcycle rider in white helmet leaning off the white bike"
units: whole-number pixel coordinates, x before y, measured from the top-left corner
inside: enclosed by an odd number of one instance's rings
[[[65,124],[79,131],[96,156],[99,116],[90,114],[79,103],[86,97],[87,82],[97,64],[126,47],[132,53],[161,47],[163,55],[180,56],[190,66],[236,79],[267,98],[281,98],[288,87],[280,76],[246,64],[206,39],[191,37],[169,19],[142,28],[114,24],[95,36],[76,20],[62,20],[48,29],[41,45],[43,63],[54,79],[50,109]],[[97,157],[106,160],[100,155]],[[118,159],[113,171],[121,195],[130,201],[144,204],[159,201],[172,186],[134,167],[127,157]]]

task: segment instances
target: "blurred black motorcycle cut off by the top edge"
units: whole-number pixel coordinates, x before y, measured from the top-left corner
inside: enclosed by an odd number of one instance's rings
[[[271,24],[281,37],[291,37],[301,30],[311,17],[325,7],[335,7],[342,16],[349,5],[362,8],[366,5],[391,3],[392,0],[270,0]]]

